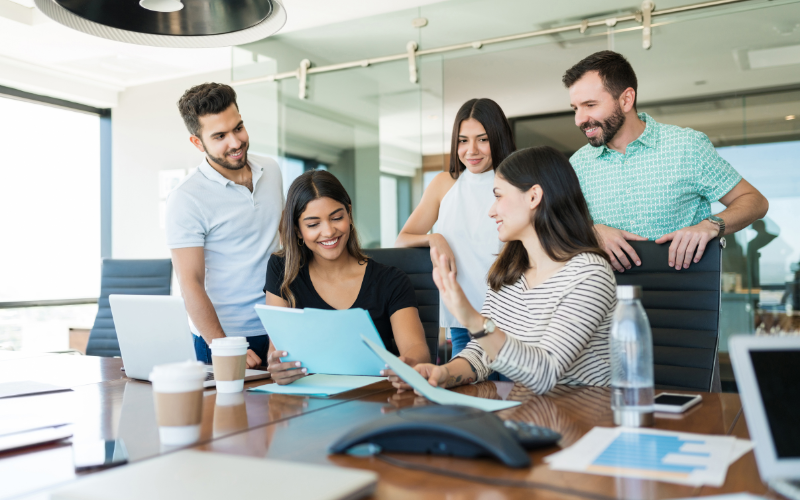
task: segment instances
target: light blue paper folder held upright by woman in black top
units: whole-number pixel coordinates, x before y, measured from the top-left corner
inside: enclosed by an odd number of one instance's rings
[[[289,309],[256,305],[256,314],[282,361],[300,361],[308,373],[379,376],[384,362],[361,340],[385,347],[364,309]]]

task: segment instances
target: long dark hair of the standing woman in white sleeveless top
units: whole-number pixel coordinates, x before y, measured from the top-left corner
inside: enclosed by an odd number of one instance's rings
[[[491,99],[470,99],[458,110],[453,122],[453,136],[450,138],[450,176],[453,179],[458,179],[467,168],[458,158],[458,133],[461,131],[461,122],[470,118],[479,121],[486,130],[492,150],[493,169],[497,170],[497,166],[517,149],[511,125],[500,106]]]

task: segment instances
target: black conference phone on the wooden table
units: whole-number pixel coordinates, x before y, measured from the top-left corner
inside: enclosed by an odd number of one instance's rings
[[[492,456],[510,467],[531,464],[526,449],[550,446],[561,434],[525,422],[460,405],[406,408],[364,424],[330,446],[345,453],[371,444],[381,451],[430,453],[457,457]]]

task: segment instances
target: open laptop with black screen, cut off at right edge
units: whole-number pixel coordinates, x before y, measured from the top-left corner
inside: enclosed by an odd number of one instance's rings
[[[800,500],[800,336],[738,335],[729,351],[761,479]]]

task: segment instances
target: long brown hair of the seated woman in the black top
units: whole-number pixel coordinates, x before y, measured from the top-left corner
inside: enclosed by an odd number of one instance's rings
[[[367,260],[361,251],[358,241],[356,226],[353,224],[353,204],[350,195],[330,172],[325,170],[309,170],[297,177],[289,187],[286,195],[286,206],[281,215],[278,233],[281,238],[282,248],[275,255],[284,258],[283,284],[281,297],[289,302],[289,307],[297,303],[289,286],[297,279],[300,268],[307,265],[314,258],[314,253],[308,246],[300,243],[300,216],[305,212],[308,204],[320,198],[330,198],[344,205],[350,217],[350,235],[347,238],[347,252],[359,262]]]

